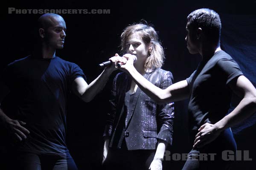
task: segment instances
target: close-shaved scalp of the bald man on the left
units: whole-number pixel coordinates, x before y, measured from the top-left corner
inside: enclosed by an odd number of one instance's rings
[[[44,14],[38,18],[38,28],[47,28],[54,26],[56,22],[64,21],[64,19],[58,14]]]

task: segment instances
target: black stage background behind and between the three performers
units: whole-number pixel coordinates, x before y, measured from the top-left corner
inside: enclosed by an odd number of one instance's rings
[[[245,76],[256,85],[256,1],[61,1],[61,2],[7,2],[1,7],[0,71],[15,59],[29,55],[34,45],[33,29],[41,14],[8,14],[8,7],[19,9],[110,9],[110,14],[61,14],[67,25],[64,49],[57,56],[75,62],[87,76],[88,84],[102,70],[99,62],[119,52],[122,30],[145,19],[159,31],[166,53],[163,69],[171,71],[174,82],[186,79],[196,69],[199,55],[186,49],[186,16],[198,8],[212,8],[222,21],[221,47],[240,65]],[[102,133],[108,111],[108,97],[113,77],[104,90],[90,103],[84,103],[73,94],[68,105],[67,144],[81,170],[99,169],[102,160]],[[214,85],[212,85],[214,88]],[[234,96],[233,104],[239,99]],[[10,102],[5,102],[10,105]],[[231,107],[231,108],[232,108]],[[256,166],[256,115],[233,128],[238,150],[249,150],[252,161],[236,161],[233,170]],[[3,136],[0,135],[2,143]],[[175,103],[175,125],[171,153],[188,153],[191,149],[187,132],[187,101]],[[8,150],[2,144],[1,156]],[[166,161],[163,169],[179,170],[184,161]],[[0,165],[0,169],[1,165]],[[254,168],[253,168],[254,169]]]

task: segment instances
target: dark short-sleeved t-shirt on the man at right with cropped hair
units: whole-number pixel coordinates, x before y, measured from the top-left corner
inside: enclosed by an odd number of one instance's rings
[[[201,125],[214,124],[227,114],[232,95],[228,83],[242,74],[229,54],[217,51],[186,79],[190,90],[188,112],[192,142]]]

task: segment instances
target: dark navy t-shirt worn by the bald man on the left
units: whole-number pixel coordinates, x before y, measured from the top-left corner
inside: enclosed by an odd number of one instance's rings
[[[14,100],[15,119],[26,122],[28,138],[18,150],[30,153],[65,154],[67,96],[74,79],[84,76],[78,65],[59,57],[28,56],[10,63],[2,76]]]

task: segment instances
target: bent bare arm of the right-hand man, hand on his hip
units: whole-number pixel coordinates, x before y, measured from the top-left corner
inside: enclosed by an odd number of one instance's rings
[[[229,84],[232,91],[242,97],[236,108],[214,125],[206,123],[199,128],[194,147],[202,147],[218,137],[221,131],[243,122],[256,112],[256,89],[244,76]]]

